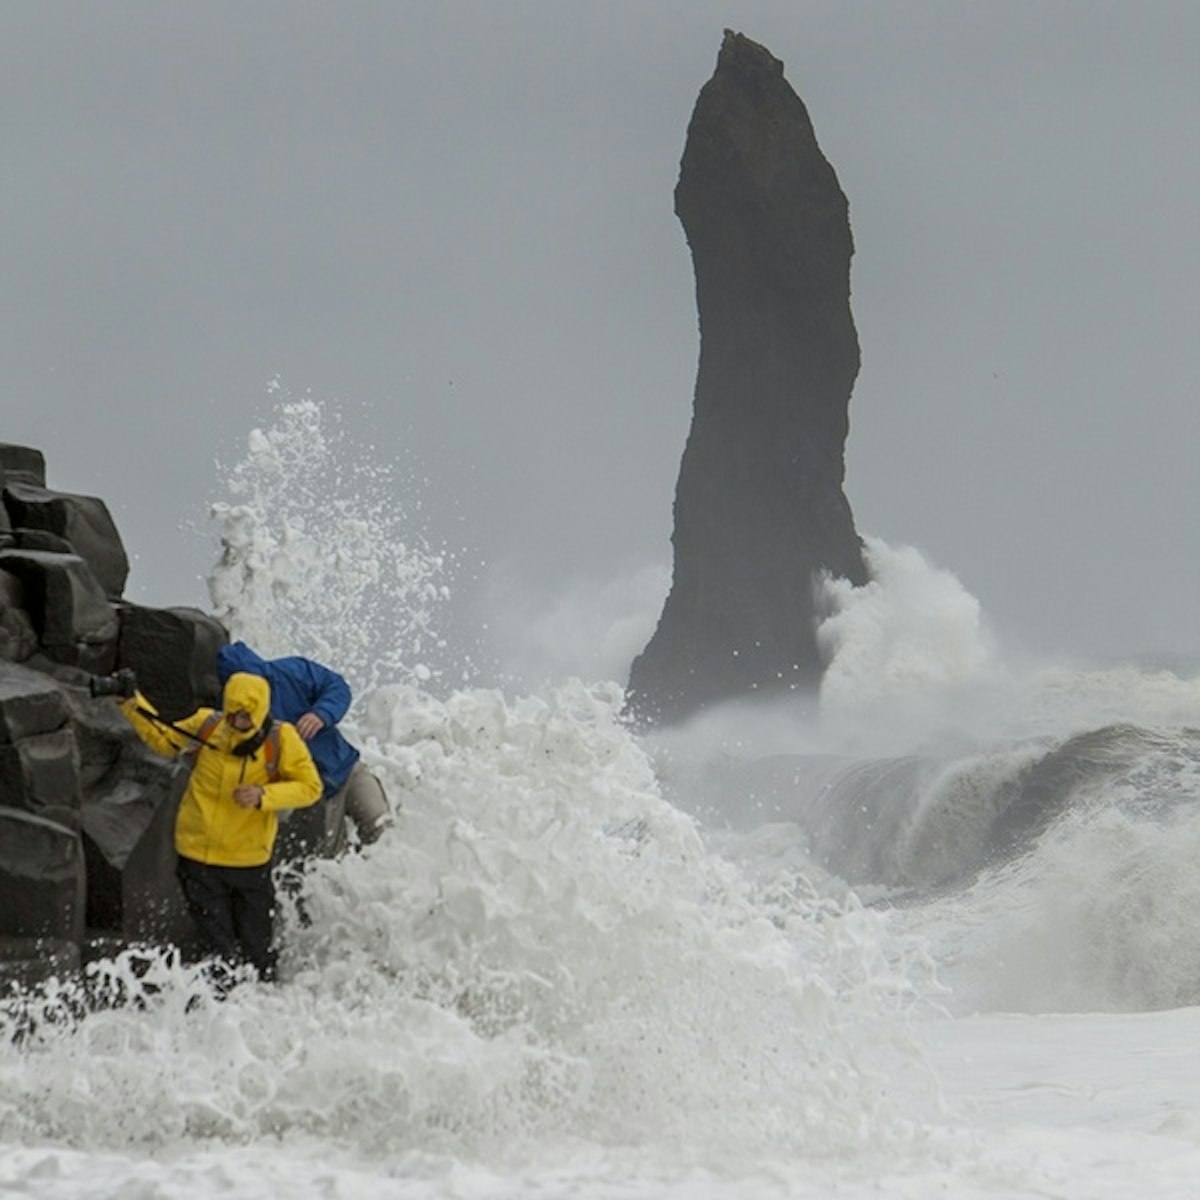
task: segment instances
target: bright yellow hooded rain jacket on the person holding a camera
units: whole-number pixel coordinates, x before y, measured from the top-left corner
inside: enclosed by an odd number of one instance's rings
[[[271,689],[265,679],[252,674],[233,674],[224,686],[222,707],[226,713],[245,709],[253,720],[250,732],[235,730],[221,720],[203,745],[156,724],[138,712],[155,712],[150,702],[136,692],[122,701],[121,712],[143,742],[168,757],[194,752],[196,762],[187,791],[175,817],[175,850],[184,858],[211,866],[262,866],[271,859],[280,809],[304,809],[320,799],[322,782],[312,755],[287,721],[276,722],[280,731],[280,755],[272,780],[266,762],[266,748],[253,755],[239,756],[234,748],[254,737],[266,720]],[[199,733],[212,714],[198,708],[191,716],[174,721],[180,730]],[[264,788],[262,808],[240,808],[233,790],[257,784]]]

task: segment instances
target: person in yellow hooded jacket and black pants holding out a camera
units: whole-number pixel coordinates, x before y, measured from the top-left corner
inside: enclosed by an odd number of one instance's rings
[[[140,694],[121,702],[125,718],[152,750],[193,754],[192,776],[175,817],[176,872],[206,948],[275,978],[271,944],[276,812],[320,799],[322,782],[295,726],[272,721],[265,679],[233,674],[221,712],[199,708],[170,725]]]

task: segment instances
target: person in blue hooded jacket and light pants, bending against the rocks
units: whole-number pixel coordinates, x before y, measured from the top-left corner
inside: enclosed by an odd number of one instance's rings
[[[259,676],[271,685],[271,716],[296,727],[325,788],[317,804],[298,810],[282,823],[280,857],[342,853],[347,846],[347,816],[360,842],[374,841],[389,823],[388,798],[359,751],[337,728],[350,707],[349,684],[312,659],[264,659],[245,642],[222,646],[217,650],[222,686],[239,671]]]

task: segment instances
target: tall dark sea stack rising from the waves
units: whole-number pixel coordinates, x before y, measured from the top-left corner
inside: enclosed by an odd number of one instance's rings
[[[816,685],[817,581],[866,581],[842,492],[859,368],[848,205],[782,62],[740,34],[696,101],[674,202],[700,368],[671,592],[630,674],[647,722]]]

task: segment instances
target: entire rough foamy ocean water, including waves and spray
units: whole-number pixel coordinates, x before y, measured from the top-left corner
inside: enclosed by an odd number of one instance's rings
[[[637,737],[611,683],[470,685],[454,556],[338,438],[250,437],[214,608],[347,670],[397,822],[277,985],[0,1010],[0,1192],[1200,1194],[1200,679],[1014,662],[872,541],[821,696]]]

